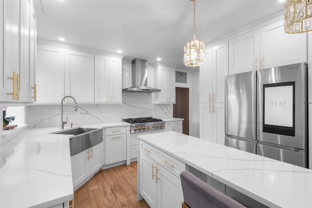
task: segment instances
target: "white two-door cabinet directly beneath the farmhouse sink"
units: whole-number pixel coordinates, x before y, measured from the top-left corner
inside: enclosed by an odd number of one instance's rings
[[[71,157],[73,186],[78,186],[103,165],[103,142]]]

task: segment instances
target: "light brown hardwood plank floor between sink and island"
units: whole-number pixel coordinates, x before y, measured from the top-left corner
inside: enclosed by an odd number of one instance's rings
[[[149,208],[137,201],[137,162],[100,170],[74,197],[75,208]]]

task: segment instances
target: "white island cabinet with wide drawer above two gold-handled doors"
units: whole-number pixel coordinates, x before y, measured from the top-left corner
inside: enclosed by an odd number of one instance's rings
[[[147,204],[151,208],[180,207],[183,192],[179,174],[185,164],[141,141],[139,157],[139,191]]]

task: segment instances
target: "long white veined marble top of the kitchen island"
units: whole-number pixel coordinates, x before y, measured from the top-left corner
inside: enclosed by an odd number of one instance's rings
[[[139,139],[270,208],[312,207],[312,170],[177,132]]]

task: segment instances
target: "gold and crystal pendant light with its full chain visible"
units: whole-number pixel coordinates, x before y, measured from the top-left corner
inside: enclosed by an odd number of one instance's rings
[[[194,68],[205,63],[205,43],[195,38],[195,0],[191,1],[194,4],[194,35],[193,40],[184,45],[184,65]]]

